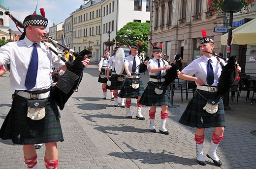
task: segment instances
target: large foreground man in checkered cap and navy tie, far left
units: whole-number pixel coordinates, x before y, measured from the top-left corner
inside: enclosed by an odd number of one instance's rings
[[[9,42],[0,50],[0,67],[10,62],[10,86],[15,90],[11,109],[0,129],[0,138],[23,145],[29,169],[37,169],[34,144],[44,143],[45,166],[57,169],[57,142],[64,141],[64,138],[57,104],[50,97],[53,85],[51,71],[53,66],[66,71],[66,66],[41,42],[47,33],[48,20],[42,8],[40,11],[42,16],[29,15],[25,18],[23,26],[26,30],[22,40]],[[51,48],[56,49],[53,45]],[[89,63],[89,59],[82,61],[85,67]]]

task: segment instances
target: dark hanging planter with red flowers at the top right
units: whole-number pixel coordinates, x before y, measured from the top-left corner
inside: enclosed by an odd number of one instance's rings
[[[254,0],[208,0],[210,10],[216,10],[218,14],[224,12],[239,12],[248,14],[250,7],[254,6]]]

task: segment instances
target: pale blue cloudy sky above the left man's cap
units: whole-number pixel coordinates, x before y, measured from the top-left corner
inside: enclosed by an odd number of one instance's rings
[[[48,28],[55,24],[64,22],[72,12],[84,4],[84,0],[4,0],[10,14],[20,22],[23,22],[26,16],[33,13],[38,2],[39,8],[44,8],[45,16],[49,23]],[[9,19],[9,26],[12,30],[18,30]]]

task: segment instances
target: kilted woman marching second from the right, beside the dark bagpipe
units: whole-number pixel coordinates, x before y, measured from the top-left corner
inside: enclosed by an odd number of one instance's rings
[[[165,128],[165,123],[168,117],[167,109],[168,106],[171,106],[171,103],[168,92],[168,85],[165,82],[164,76],[166,75],[166,70],[169,70],[171,67],[167,61],[161,58],[161,56],[162,47],[153,47],[153,58],[148,61],[147,65],[149,71],[149,82],[142,97],[139,100],[139,103],[142,105],[150,106],[150,131],[153,133],[157,132],[155,128],[156,109],[157,106],[161,106],[159,132],[168,135],[169,132]]]

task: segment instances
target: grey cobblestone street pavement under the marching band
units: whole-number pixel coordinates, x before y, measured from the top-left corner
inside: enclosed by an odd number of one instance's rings
[[[144,87],[148,72],[141,75]],[[174,95],[168,108],[166,128],[169,135],[149,130],[149,107],[142,107],[145,121],[126,119],[126,109],[114,107],[114,101],[103,100],[101,84],[97,82],[97,65],[85,69],[83,80],[61,112],[64,142],[58,143],[59,169],[220,169],[206,157],[214,128],[205,132],[204,155],[206,166],[199,166],[195,158],[195,128],[180,124],[179,118],[188,104],[181,103],[181,94]],[[9,73],[0,77],[0,124],[11,107],[13,90]],[[256,102],[245,103],[242,92],[239,104],[229,101],[231,110],[225,112],[227,127],[217,154],[221,169],[256,169]],[[252,95],[252,94],[251,94]],[[251,97],[250,95],[250,97]],[[184,94],[185,97],[185,94]],[[191,99],[192,94],[189,94]],[[120,100],[120,99],[119,99]],[[136,100],[132,99],[135,117]],[[160,108],[156,114],[156,129],[160,127]],[[39,169],[44,168],[45,147],[36,150]],[[0,140],[0,169],[26,169],[21,145]]]

